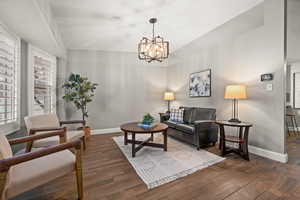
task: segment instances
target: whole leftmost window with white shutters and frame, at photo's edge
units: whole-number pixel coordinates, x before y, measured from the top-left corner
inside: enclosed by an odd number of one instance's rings
[[[20,39],[0,23],[0,133],[20,128]]]

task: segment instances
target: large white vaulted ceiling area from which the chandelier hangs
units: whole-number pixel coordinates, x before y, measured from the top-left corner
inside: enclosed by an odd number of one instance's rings
[[[53,17],[68,49],[136,52],[156,33],[174,51],[263,0],[50,0]]]

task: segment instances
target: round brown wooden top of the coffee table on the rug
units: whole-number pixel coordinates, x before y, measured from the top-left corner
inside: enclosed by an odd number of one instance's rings
[[[121,125],[121,130],[131,133],[159,133],[168,129],[168,125],[163,123],[155,123],[155,126],[150,129],[143,129],[138,126],[140,122],[131,122]]]

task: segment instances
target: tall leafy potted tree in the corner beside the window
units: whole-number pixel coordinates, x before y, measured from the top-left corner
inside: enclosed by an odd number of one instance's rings
[[[81,110],[83,120],[89,116],[87,104],[92,102],[97,85],[97,83],[89,81],[87,77],[73,73],[63,85],[63,88],[65,88],[63,99],[67,102],[73,102],[75,107]],[[90,127],[86,126],[85,128],[88,134],[90,134]]]

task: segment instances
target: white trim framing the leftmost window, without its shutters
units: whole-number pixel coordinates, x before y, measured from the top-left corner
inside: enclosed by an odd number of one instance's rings
[[[17,119],[15,122],[0,125],[0,134],[8,135],[20,130],[21,117],[21,39],[13,32],[11,32],[6,25],[0,22],[0,28],[3,29],[10,37],[16,40],[17,55],[16,55],[16,89],[17,89]]]

